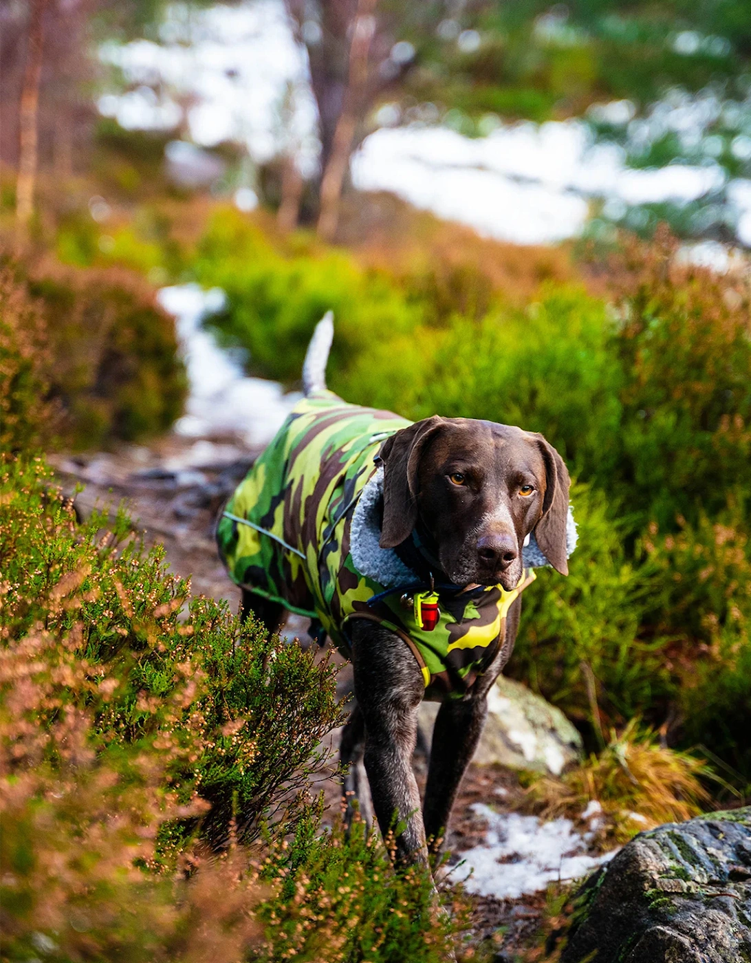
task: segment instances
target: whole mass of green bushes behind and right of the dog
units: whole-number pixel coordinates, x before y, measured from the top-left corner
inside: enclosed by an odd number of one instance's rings
[[[596,700],[611,725],[672,719],[671,738],[684,745],[703,741],[700,728],[712,732],[712,751],[751,774],[736,744],[749,721],[743,679],[751,656],[742,619],[732,615],[746,612],[751,591],[747,290],[683,265],[661,234],[652,246],[620,249],[609,264],[610,302],[550,282],[521,307],[466,284],[431,298],[424,274],[402,274],[401,287],[389,282],[397,318],[390,325],[371,311],[368,293],[356,310],[337,303],[345,285],[356,292],[364,277],[343,254],[331,280],[334,255],[310,248],[285,256],[238,218],[221,217],[213,232],[206,264],[223,263],[228,277],[238,260],[253,264],[220,326],[255,351],[262,370],[272,370],[264,352],[275,351],[276,370],[298,376],[293,365],[309,331],[333,306],[345,319],[337,318],[340,353],[328,381],[344,398],[414,419],[439,412],[542,431],[583,482],[574,495],[581,538],[571,575],[541,573],[526,595],[509,671],[590,735]],[[210,277],[222,283],[216,268]],[[729,500],[732,525],[719,521]],[[718,563],[717,575],[700,578],[716,554],[716,524],[735,533],[736,567]],[[683,544],[689,534],[693,547],[678,558],[669,538]],[[715,623],[716,638],[707,628]],[[733,706],[727,717],[723,700]]]

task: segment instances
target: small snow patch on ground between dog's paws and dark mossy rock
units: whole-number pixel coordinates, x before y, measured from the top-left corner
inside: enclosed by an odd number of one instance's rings
[[[587,854],[591,834],[582,836],[571,820],[541,822],[536,816],[497,813],[484,803],[471,807],[488,822],[485,842],[463,852],[462,863],[453,870],[470,893],[497,899],[518,899],[544,890],[549,883],[577,879],[607,863],[615,850],[603,856]],[[597,810],[585,818],[597,819]],[[590,822],[591,825],[591,822]]]

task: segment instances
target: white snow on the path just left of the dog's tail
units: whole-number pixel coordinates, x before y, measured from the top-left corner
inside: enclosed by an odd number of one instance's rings
[[[159,301],[176,319],[190,384],[185,414],[175,424],[177,433],[194,438],[234,434],[249,447],[266,445],[299,395],[284,394],[275,381],[246,377],[239,357],[221,348],[203,328],[203,318],[222,306],[223,292],[180,284],[162,288]]]

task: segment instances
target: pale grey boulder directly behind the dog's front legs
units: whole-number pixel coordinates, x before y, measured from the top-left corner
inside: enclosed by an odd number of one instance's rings
[[[582,754],[582,737],[566,716],[540,695],[513,679],[500,676],[488,693],[488,716],[474,761],[559,775]],[[432,732],[438,705],[424,702],[420,724]]]

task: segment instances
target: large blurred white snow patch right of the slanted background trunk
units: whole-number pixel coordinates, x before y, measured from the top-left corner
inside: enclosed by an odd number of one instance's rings
[[[596,197],[686,203],[725,182],[716,164],[635,170],[624,158],[616,144],[593,144],[580,120],[502,124],[484,138],[415,125],[371,134],[352,160],[352,180],[516,244],[579,234]]]

